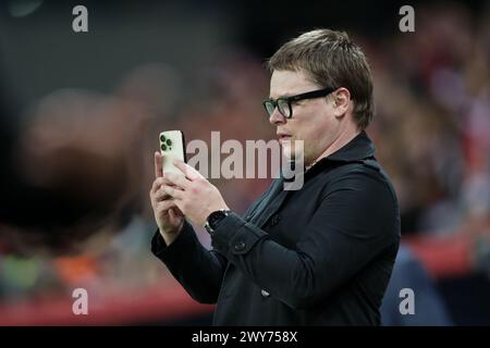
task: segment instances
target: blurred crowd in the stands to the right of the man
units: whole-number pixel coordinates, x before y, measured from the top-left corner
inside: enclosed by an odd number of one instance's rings
[[[369,130],[407,233],[445,233],[489,212],[490,13],[475,21],[465,10],[428,7],[416,33],[368,52],[378,108]]]

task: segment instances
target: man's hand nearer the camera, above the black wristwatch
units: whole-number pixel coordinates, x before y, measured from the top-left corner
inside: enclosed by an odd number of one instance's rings
[[[170,195],[175,206],[193,223],[204,226],[209,214],[220,209],[229,209],[218,188],[209,183],[194,167],[182,161],[173,163],[182,173],[166,174],[172,185],[166,185],[164,191]]]

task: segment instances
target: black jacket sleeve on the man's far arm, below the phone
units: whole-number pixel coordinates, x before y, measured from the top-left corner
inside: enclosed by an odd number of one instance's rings
[[[170,246],[157,229],[151,239],[151,252],[167,265],[192,298],[201,303],[217,302],[228,261],[216,251],[207,250],[187,221]]]

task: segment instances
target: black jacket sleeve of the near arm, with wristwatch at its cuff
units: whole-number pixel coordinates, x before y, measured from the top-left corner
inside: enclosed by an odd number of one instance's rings
[[[318,303],[400,239],[397,203],[383,179],[351,173],[329,187],[294,249],[232,213],[212,236],[215,250],[287,306]]]

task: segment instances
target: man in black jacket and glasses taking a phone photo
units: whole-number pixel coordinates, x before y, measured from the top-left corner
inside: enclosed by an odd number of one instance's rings
[[[268,62],[265,107],[291,157],[304,140],[304,185],[283,179],[245,213],[188,165],[163,175],[156,153],[150,190],[159,226],[152,252],[215,325],[378,325],[400,243],[397,201],[364,129],[372,117],[366,58],[345,33],[318,29]],[[191,221],[206,225],[212,250]]]

